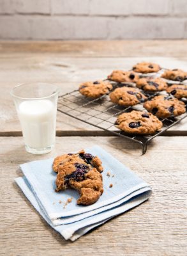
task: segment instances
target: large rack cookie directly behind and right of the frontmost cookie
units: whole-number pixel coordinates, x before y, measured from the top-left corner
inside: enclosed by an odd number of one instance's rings
[[[144,108],[160,118],[178,116],[186,111],[184,102],[167,95],[156,96],[145,102]]]

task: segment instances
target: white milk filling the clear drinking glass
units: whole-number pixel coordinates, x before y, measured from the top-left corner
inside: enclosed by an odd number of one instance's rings
[[[46,148],[55,143],[56,106],[50,100],[26,100],[18,109],[25,144]]]

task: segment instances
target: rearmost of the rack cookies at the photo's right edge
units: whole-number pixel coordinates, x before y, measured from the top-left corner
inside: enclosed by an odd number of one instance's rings
[[[182,82],[187,79],[187,72],[184,72],[181,69],[173,69],[173,70],[166,70],[161,77],[173,81]]]

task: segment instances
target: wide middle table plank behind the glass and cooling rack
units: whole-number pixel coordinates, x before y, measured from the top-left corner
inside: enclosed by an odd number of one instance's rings
[[[168,68],[187,69],[184,58],[144,57],[141,60],[156,61]],[[140,58],[137,57],[101,58],[98,61],[97,58],[64,58],[56,53],[27,55],[27,53],[21,52],[19,56],[14,53],[11,56],[0,54],[0,135],[20,134],[19,120],[10,97],[10,90],[16,84],[45,81],[58,84],[61,93],[66,93],[75,90],[82,81],[103,79],[113,69],[129,69],[138,61]],[[98,132],[98,129],[58,113],[57,134],[80,135],[80,131],[89,131],[88,135],[96,135],[94,132]],[[180,135],[178,131],[181,131],[183,135],[187,134],[186,120],[172,127],[170,134]]]

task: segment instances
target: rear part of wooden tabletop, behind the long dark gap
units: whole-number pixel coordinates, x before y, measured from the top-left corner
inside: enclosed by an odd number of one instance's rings
[[[54,83],[62,94],[77,89],[83,81],[105,79],[114,69],[128,70],[138,61],[154,61],[162,67],[187,70],[186,45],[187,40],[0,42],[0,135],[21,135],[10,97],[10,90],[17,84]],[[176,51],[172,52],[171,47]],[[88,136],[108,135],[57,113],[57,135],[82,135],[82,131]],[[186,120],[165,135],[187,135]]]

